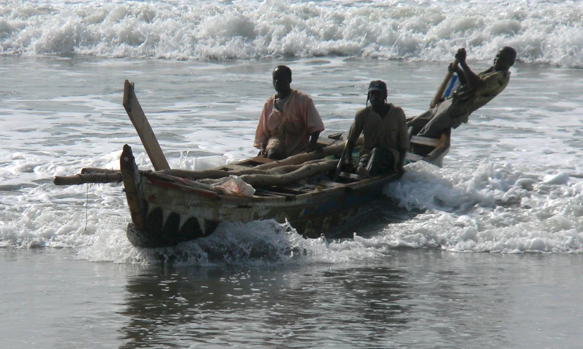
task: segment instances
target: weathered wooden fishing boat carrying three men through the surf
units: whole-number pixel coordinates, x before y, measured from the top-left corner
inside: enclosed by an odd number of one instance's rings
[[[136,111],[143,113],[133,84],[127,81],[124,106],[131,118]],[[150,134],[153,136],[151,129]],[[80,175],[56,177],[55,184],[123,181],[132,220],[127,237],[136,247],[167,247],[205,237],[224,220],[287,220],[304,237],[320,237],[333,232],[346,218],[358,215],[361,208],[383,195],[385,184],[398,179],[397,174],[360,178],[337,173],[345,142],[340,134],[321,138],[322,150],[280,161],[249,158],[205,171],[170,170],[165,159],[158,163],[162,169],[138,170],[131,147],[125,145],[119,172],[85,169]],[[146,143],[145,137],[142,140]],[[431,151],[427,155],[407,153],[409,162],[424,160],[441,166],[450,148],[450,136],[412,136],[411,143]],[[359,150],[359,143],[355,150]],[[153,150],[148,155],[150,159],[157,156]],[[229,176],[250,184],[255,189],[253,195],[225,194],[217,179]]]

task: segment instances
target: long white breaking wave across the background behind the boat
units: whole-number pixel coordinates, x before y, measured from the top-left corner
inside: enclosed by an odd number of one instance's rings
[[[0,4],[0,54],[217,60],[493,59],[583,67],[575,1],[18,1]]]

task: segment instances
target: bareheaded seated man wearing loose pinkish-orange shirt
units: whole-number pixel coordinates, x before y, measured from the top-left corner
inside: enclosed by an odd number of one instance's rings
[[[282,160],[303,151],[312,151],[324,124],[313,100],[299,90],[292,90],[291,69],[277,66],[273,69],[273,88],[277,94],[270,97],[259,117],[253,146],[258,155]]]

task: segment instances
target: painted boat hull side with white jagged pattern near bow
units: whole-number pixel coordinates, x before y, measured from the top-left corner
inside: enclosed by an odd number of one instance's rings
[[[448,150],[449,138],[438,152],[423,160],[441,165]],[[347,218],[358,215],[367,203],[380,199],[383,187],[398,179],[397,175],[347,183],[325,179],[308,186],[306,192],[258,189],[253,197],[231,196],[201,188],[200,184],[188,179],[138,171],[131,148],[129,151],[127,154],[124,147],[121,172],[132,213],[127,237],[136,247],[174,246],[205,237],[224,220],[241,223],[268,219],[284,223],[287,220],[304,237],[328,235]],[[124,158],[128,159],[126,165]]]

